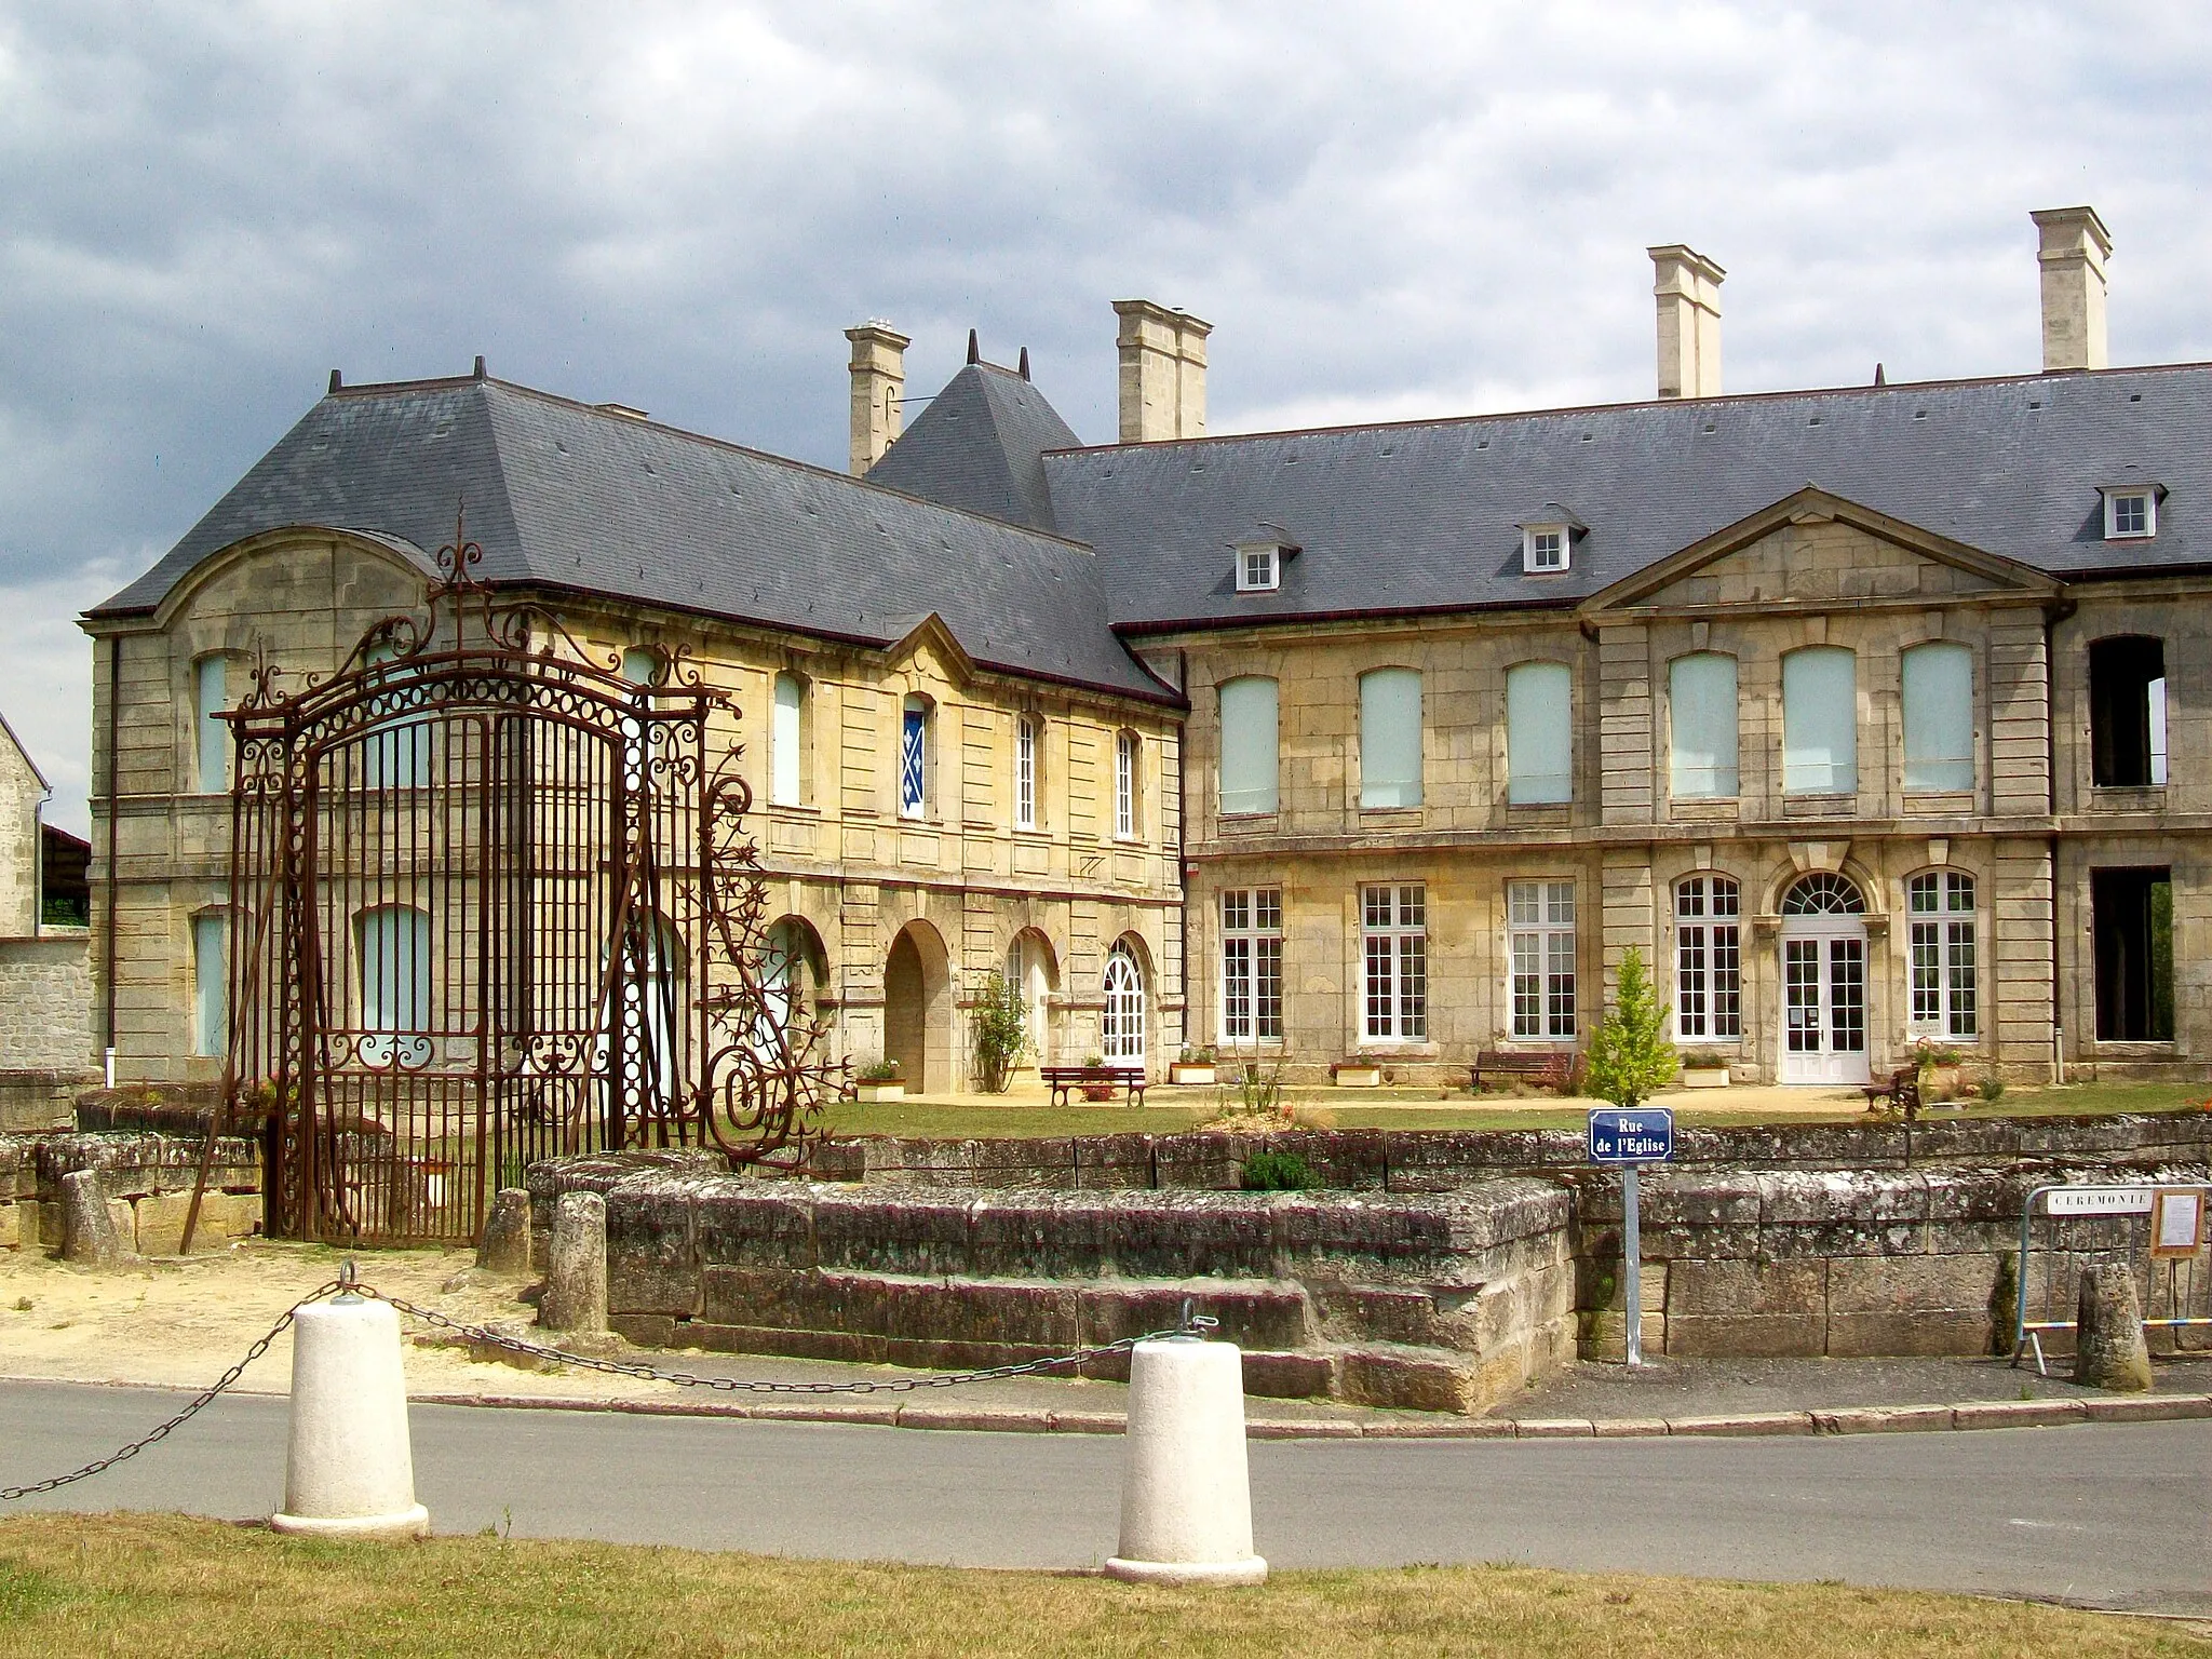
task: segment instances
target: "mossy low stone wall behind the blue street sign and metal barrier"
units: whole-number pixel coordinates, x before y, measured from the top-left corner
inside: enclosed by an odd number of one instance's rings
[[[1641,1318],[1648,1354],[2011,1354],[2020,1214],[2051,1181],[2110,1181],[2077,1164],[1936,1170],[1674,1170],[1641,1177]],[[2124,1179],[2205,1183],[2203,1161],[2132,1166]],[[1621,1188],[1573,1177],[1579,1352],[1619,1358]],[[2110,1252],[2106,1221],[2037,1221],[2031,1287],[2068,1292]],[[2139,1292],[2150,1265],[2137,1254]],[[2201,1265],[2183,1312],[2212,1316]],[[2172,1352],[2168,1334],[2157,1347]],[[2212,1347],[2199,1332],[2188,1347]],[[2068,1352],[2066,1343],[2046,1343]]]

